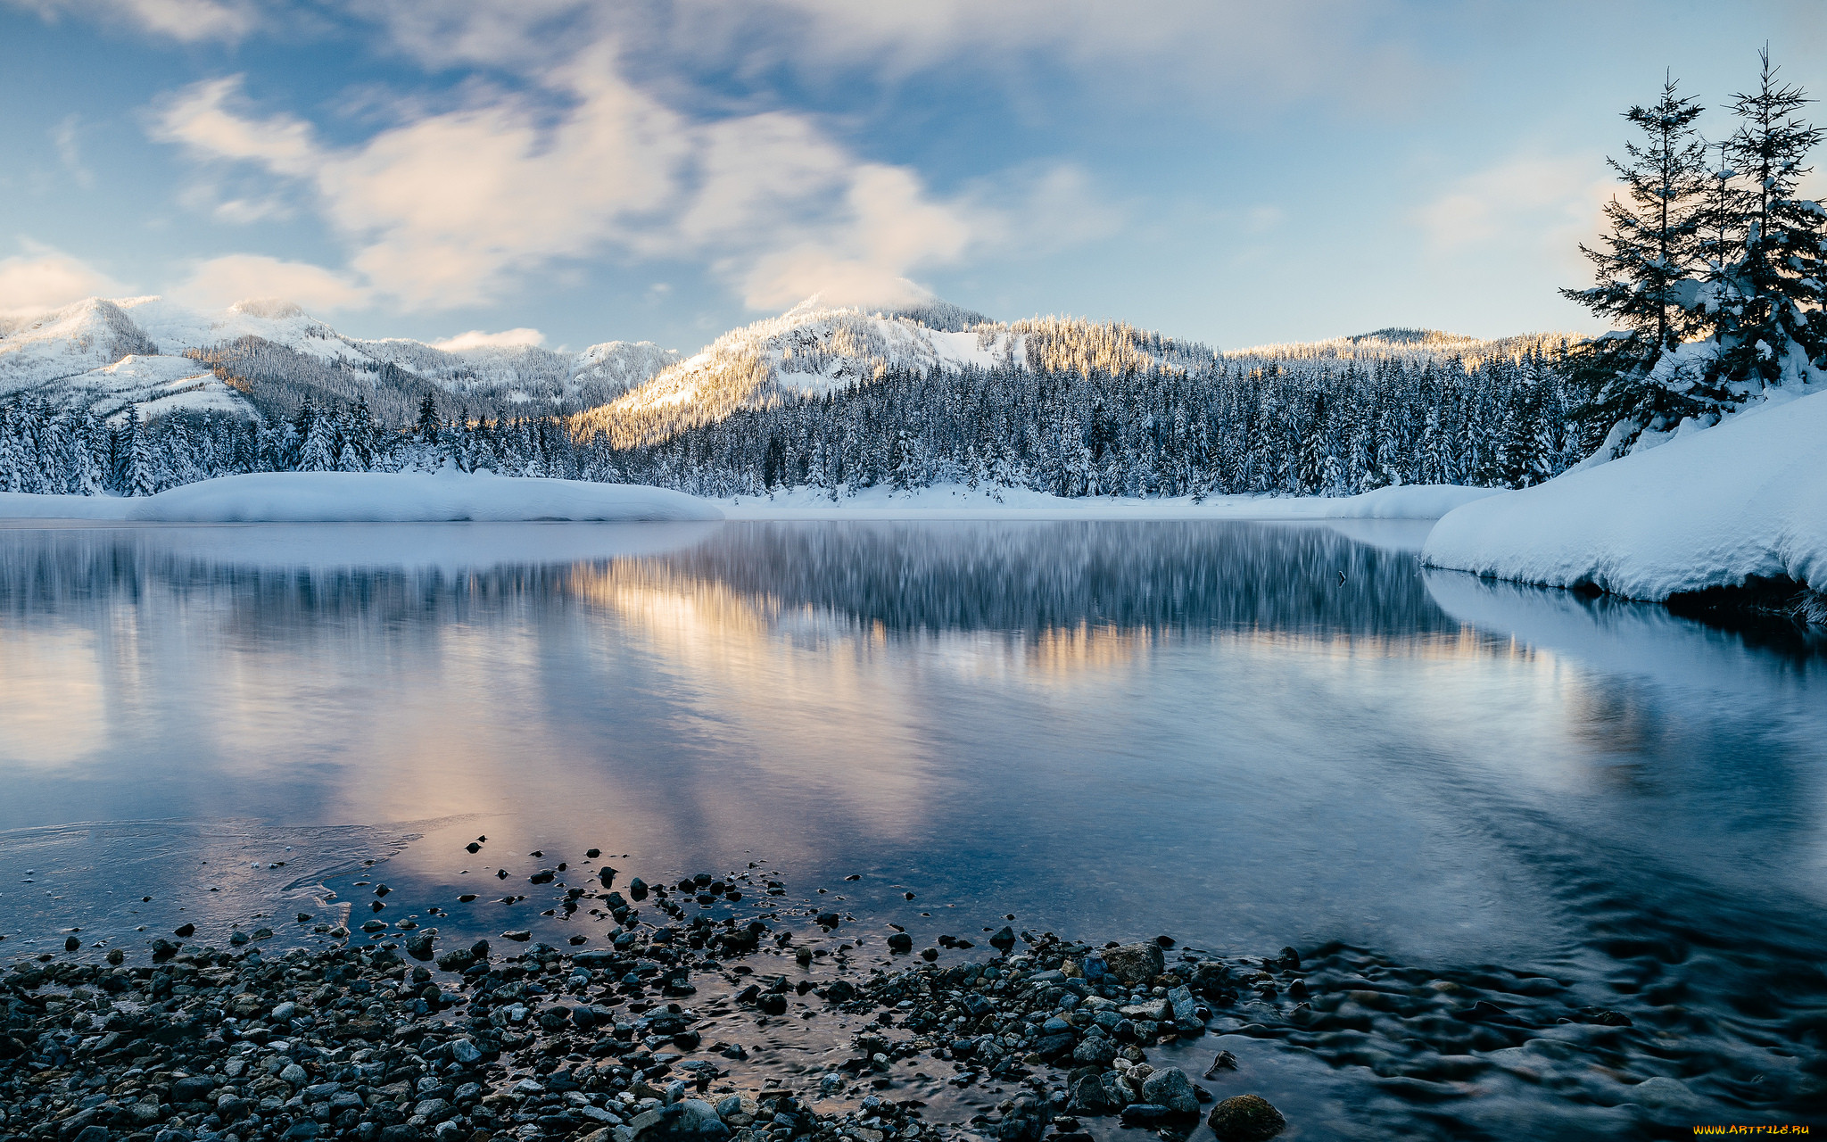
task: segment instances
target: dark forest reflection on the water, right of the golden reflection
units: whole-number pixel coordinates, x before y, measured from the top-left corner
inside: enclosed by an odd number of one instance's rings
[[[725,524],[652,563],[888,630],[1458,632],[1412,555],[1297,524]]]

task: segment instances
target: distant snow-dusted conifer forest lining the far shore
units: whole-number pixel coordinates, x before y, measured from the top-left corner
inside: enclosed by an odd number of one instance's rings
[[[265,422],[192,413],[104,422],[22,400],[0,404],[0,490],[150,495],[241,471],[446,462],[700,495],[950,482],[1069,497],[1520,488],[1597,442],[1571,415],[1564,353],[1560,338],[1518,338],[1485,356],[1434,347],[1354,356],[1339,342],[1199,369],[888,369],[621,449],[576,418],[444,420],[429,393],[409,424],[385,422],[365,400],[338,409],[307,400]]]

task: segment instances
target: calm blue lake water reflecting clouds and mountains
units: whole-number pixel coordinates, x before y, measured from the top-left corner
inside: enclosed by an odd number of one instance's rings
[[[756,862],[857,932],[1294,945],[1637,1023],[1544,1016],[1454,1080],[1383,1065],[1389,1020],[1220,1018],[1195,1074],[1235,1049],[1219,1093],[1290,1138],[1820,1116],[1827,652],[1429,572],[1423,535],[0,528],[0,959],[312,939],[373,881],[384,921],[601,937],[526,879],[601,848]]]

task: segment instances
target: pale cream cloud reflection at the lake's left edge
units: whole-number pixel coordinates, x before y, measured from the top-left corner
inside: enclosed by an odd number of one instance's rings
[[[80,762],[102,744],[102,703],[91,632],[0,621],[0,758],[31,767]]]

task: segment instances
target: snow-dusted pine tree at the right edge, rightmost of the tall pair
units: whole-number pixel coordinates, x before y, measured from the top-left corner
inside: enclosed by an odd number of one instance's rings
[[[1807,155],[1827,132],[1803,122],[1812,102],[1801,88],[1776,80],[1770,49],[1758,53],[1758,90],[1734,95],[1737,130],[1725,143],[1737,185],[1730,194],[1737,259],[1719,269],[1716,380],[1736,397],[1805,380],[1827,369],[1827,212],[1796,194]]]

